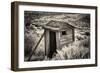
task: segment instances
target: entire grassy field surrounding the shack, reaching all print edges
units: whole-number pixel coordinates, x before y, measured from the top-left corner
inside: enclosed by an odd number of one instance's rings
[[[31,16],[31,17],[30,17]],[[50,12],[25,12],[25,30],[24,30],[24,55],[25,61],[28,61],[31,52],[37,45],[41,35],[44,32],[42,25],[46,25],[50,20],[59,20],[69,22],[75,26],[75,41],[62,46],[53,54],[51,60],[68,59],[88,59],[90,58],[90,15],[72,14],[72,13],[50,13]],[[49,60],[45,56],[45,37],[42,38],[39,45],[30,59],[30,61]]]

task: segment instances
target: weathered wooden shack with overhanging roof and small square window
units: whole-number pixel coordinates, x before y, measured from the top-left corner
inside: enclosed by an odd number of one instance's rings
[[[45,30],[45,52],[49,58],[57,53],[57,49],[74,41],[74,26],[69,23],[51,20],[43,28]]]

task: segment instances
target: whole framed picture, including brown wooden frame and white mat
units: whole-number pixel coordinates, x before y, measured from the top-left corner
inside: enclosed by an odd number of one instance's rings
[[[97,66],[97,7],[12,3],[14,71]]]

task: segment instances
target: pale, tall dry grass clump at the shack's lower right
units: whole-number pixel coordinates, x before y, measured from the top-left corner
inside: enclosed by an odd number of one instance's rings
[[[87,41],[84,41],[87,43]],[[90,58],[90,50],[84,46],[84,42],[74,42],[69,46],[64,46],[62,50],[58,50],[54,60],[66,60],[66,59],[86,59]]]

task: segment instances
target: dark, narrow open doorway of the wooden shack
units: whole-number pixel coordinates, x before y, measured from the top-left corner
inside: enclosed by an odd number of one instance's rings
[[[50,31],[49,32],[49,58],[52,58],[54,52],[56,53],[56,32]]]

